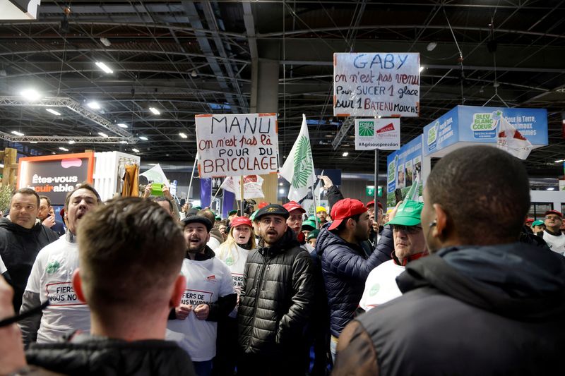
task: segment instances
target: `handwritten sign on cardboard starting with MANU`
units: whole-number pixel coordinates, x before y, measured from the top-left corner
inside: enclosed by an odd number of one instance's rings
[[[201,178],[278,171],[276,114],[196,115]]]

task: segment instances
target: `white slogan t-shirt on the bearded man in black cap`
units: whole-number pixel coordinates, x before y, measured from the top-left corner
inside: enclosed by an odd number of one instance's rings
[[[185,258],[181,273],[186,277],[182,304],[196,308],[199,304],[214,303],[220,296],[235,293],[230,269],[218,257],[203,261]],[[217,322],[198,320],[191,312],[184,320],[167,322],[166,339],[177,341],[195,362],[203,362],[216,355],[217,332]]]

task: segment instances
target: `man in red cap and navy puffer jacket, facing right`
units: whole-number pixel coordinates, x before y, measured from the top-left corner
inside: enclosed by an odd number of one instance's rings
[[[378,250],[367,257],[362,243],[369,238],[371,219],[367,207],[359,200],[345,198],[336,202],[331,208],[331,217],[333,222],[320,231],[316,253],[321,259],[326,284],[330,309],[330,348],[335,357],[338,337],[345,325],[353,319],[369,272],[381,264],[381,253],[392,253],[393,244],[381,242],[377,246]],[[383,236],[391,239],[390,232],[389,228],[384,229]]]

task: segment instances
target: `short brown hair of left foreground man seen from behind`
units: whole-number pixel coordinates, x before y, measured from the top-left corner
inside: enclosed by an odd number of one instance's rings
[[[105,316],[168,299],[164,290],[178,277],[186,250],[176,220],[143,198],[98,205],[82,219],[77,238],[85,297]]]

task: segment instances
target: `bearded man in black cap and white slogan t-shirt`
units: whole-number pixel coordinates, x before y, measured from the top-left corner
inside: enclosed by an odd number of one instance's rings
[[[186,257],[181,272],[186,277],[186,289],[181,304],[169,316],[166,338],[177,341],[189,353],[196,374],[208,376],[216,355],[218,320],[232,312],[237,293],[230,269],[206,245],[212,222],[200,215],[182,222]]]

